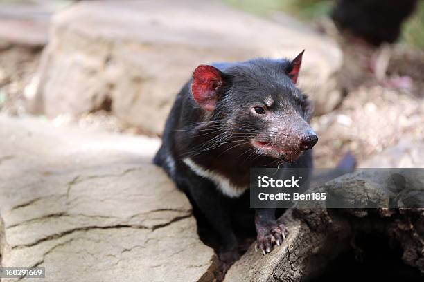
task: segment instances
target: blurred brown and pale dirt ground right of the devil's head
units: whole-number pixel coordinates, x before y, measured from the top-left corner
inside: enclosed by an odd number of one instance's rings
[[[319,135],[315,165],[334,167],[348,151],[360,164],[402,139],[424,140],[424,52],[338,41],[345,97],[333,112],[312,118]]]

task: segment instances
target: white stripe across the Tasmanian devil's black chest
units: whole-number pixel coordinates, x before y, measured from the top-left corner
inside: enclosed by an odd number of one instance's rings
[[[191,170],[193,170],[198,176],[207,178],[215,183],[216,187],[222,191],[222,194],[229,196],[230,198],[237,198],[249,189],[249,187],[232,185],[230,180],[225,176],[222,176],[222,174],[200,167],[200,165],[193,162],[191,158],[185,158],[183,162],[187,164],[188,167],[190,167]]]

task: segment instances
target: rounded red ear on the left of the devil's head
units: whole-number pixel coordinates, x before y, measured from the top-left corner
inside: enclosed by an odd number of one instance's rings
[[[194,100],[206,111],[213,111],[223,82],[222,73],[218,68],[207,65],[197,66],[191,83]]]

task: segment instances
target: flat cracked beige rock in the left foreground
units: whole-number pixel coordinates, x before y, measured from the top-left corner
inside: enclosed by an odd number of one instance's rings
[[[150,164],[158,144],[0,117],[2,266],[45,267],[45,281],[211,281],[191,205]]]

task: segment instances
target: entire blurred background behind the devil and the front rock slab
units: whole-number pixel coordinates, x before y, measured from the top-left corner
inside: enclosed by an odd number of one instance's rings
[[[418,165],[423,1],[1,0],[0,111],[160,137],[197,64],[303,49],[317,165]]]

